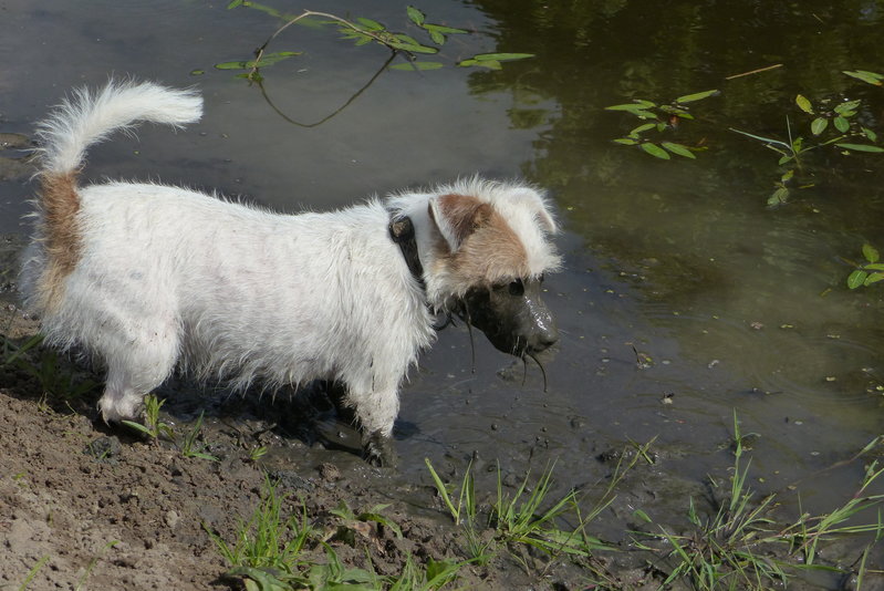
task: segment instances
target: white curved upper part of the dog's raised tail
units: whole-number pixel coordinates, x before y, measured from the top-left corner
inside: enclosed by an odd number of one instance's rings
[[[116,129],[132,128],[142,121],[181,127],[201,115],[202,98],[193,90],[113,81],[94,94],[80,89],[39,125],[42,174],[76,173],[86,148]]]

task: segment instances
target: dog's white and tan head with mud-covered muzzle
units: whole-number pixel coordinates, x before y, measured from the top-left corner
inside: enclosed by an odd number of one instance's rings
[[[544,273],[560,267],[549,239],[557,227],[537,190],[464,182],[429,196],[427,215],[434,239],[422,259],[431,305],[457,313],[517,356],[558,340],[541,299]]]

